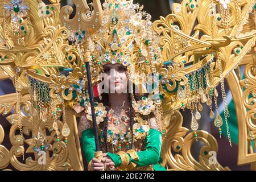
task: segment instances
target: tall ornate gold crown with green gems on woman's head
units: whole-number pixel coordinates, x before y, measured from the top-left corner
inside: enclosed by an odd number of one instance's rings
[[[103,7],[102,26],[89,40],[94,67],[102,72],[105,64],[119,63],[132,74],[155,73],[162,56],[151,16],[132,1],[108,1]]]

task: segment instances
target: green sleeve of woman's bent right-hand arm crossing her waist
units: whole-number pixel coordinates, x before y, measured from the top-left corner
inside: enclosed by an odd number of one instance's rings
[[[146,150],[137,152],[139,160],[132,160],[129,155],[130,163],[137,163],[137,167],[158,163],[162,146],[161,133],[158,130],[150,129],[148,131],[148,135],[145,138],[145,146]],[[108,152],[108,156],[115,163],[115,167],[120,166],[121,158],[119,155]]]

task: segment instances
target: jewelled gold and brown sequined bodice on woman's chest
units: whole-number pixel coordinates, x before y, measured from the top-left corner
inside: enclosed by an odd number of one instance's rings
[[[104,122],[98,125],[101,151],[106,151],[105,135],[106,131],[108,151],[117,153],[118,151],[127,151],[133,148],[135,151],[145,150],[145,138],[147,131],[150,128],[158,129],[155,119],[151,118],[148,121],[135,115],[133,123],[133,146],[131,146],[131,125],[129,118],[129,110],[118,111],[110,109],[108,112],[108,127],[104,128]],[[83,114],[80,119],[79,133],[87,128],[92,128],[92,121],[86,119]]]

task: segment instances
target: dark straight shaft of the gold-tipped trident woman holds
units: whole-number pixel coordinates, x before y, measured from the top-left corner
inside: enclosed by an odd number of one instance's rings
[[[98,152],[100,151],[100,141],[98,139],[98,127],[97,127],[96,115],[95,115],[95,109],[94,109],[92,77],[90,75],[90,62],[86,62],[85,65],[86,65],[87,80],[88,80],[88,91],[89,91],[89,97],[90,97],[90,108],[92,109],[93,132],[94,132],[94,138],[95,138],[96,151]]]

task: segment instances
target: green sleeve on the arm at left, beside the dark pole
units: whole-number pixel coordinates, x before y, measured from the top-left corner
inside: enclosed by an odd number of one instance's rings
[[[86,129],[82,131],[82,146],[84,148],[84,154],[87,163],[94,158],[94,152],[96,152],[95,139],[93,129]]]

